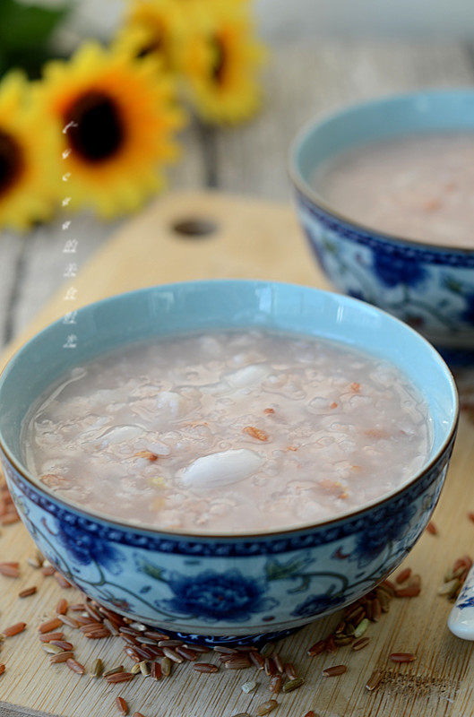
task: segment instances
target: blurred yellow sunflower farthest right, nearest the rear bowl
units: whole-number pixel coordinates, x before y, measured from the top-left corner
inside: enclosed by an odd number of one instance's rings
[[[206,31],[195,31],[177,54],[185,90],[204,120],[234,123],[254,114],[264,55],[244,0],[216,4]]]

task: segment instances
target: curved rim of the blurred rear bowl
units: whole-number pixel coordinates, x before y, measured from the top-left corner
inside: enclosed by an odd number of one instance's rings
[[[287,172],[289,175],[289,179],[292,184],[297,188],[297,191],[300,194],[303,194],[307,201],[315,204],[315,207],[317,207],[317,209],[328,214],[334,220],[338,220],[341,223],[352,227],[359,233],[363,232],[364,234],[368,234],[371,238],[379,238],[385,241],[397,242],[406,246],[416,247],[418,249],[425,249],[426,251],[441,254],[455,253],[459,255],[471,256],[474,254],[474,248],[470,249],[465,246],[445,246],[443,244],[431,244],[429,242],[420,241],[419,239],[402,237],[401,235],[392,234],[391,232],[383,231],[382,229],[374,229],[374,227],[370,227],[360,221],[351,219],[349,216],[342,212],[338,212],[337,210],[332,208],[331,203],[326,202],[323,196],[321,196],[321,194],[318,194],[318,192],[308,182],[306,182],[306,179],[303,177],[299,170],[297,162],[298,151],[302,148],[303,144],[306,142],[306,140],[310,137],[311,134],[318,132],[320,129],[323,128],[324,125],[330,125],[336,119],[343,119],[344,117],[349,118],[349,115],[355,110],[377,110],[379,108],[383,108],[384,106],[390,106],[392,102],[426,99],[436,95],[444,95],[446,98],[448,98],[450,96],[454,97],[458,95],[461,97],[462,95],[469,94],[474,99],[474,87],[470,87],[469,85],[460,85],[459,87],[451,88],[440,87],[439,89],[430,88],[429,90],[387,94],[380,98],[367,99],[366,101],[354,102],[349,105],[343,105],[339,109],[326,113],[320,118],[313,117],[311,119],[308,119],[306,123],[299,128],[297,134],[294,135],[293,139],[291,140],[291,143],[289,144],[289,151],[287,154]],[[423,131],[419,132],[418,134],[423,134]],[[474,134],[474,130],[472,131],[472,134]],[[369,142],[367,144],[369,144]],[[315,163],[314,169],[317,166],[318,162]]]

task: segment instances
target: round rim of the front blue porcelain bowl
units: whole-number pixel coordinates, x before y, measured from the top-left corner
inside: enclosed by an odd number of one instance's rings
[[[126,298],[127,296],[136,295],[136,294],[146,294],[153,289],[162,289],[162,290],[170,290],[170,289],[177,289],[183,285],[194,285],[194,286],[203,286],[203,285],[209,285],[209,284],[215,284],[215,285],[229,285],[229,284],[247,284],[247,285],[253,285],[253,286],[283,286],[293,289],[310,289],[312,292],[322,294],[323,296],[331,296],[332,298],[337,298],[339,301],[347,304],[353,304],[356,303],[358,305],[361,305],[364,310],[369,310],[370,312],[373,312],[375,314],[382,314],[384,315],[384,319],[388,319],[390,322],[394,324],[400,324],[404,331],[412,334],[416,337],[418,341],[420,341],[422,344],[425,345],[425,349],[428,350],[429,353],[432,354],[435,361],[441,365],[443,368],[444,376],[449,384],[451,384],[452,388],[452,395],[453,395],[453,413],[452,413],[452,423],[447,431],[447,434],[444,438],[444,441],[439,446],[438,450],[436,451],[435,455],[427,462],[425,466],[423,466],[422,469],[420,469],[413,478],[409,479],[403,485],[401,485],[398,488],[394,488],[390,493],[384,494],[382,497],[378,497],[367,503],[366,505],[362,505],[354,510],[347,511],[345,513],[339,514],[339,515],[333,515],[332,517],[323,520],[318,521],[316,523],[309,522],[309,523],[303,523],[303,524],[297,524],[289,528],[283,528],[283,529],[275,529],[270,531],[254,531],[254,532],[187,532],[187,531],[173,531],[173,530],[166,530],[159,528],[159,526],[153,526],[148,523],[138,523],[134,520],[130,521],[123,521],[119,520],[117,518],[114,518],[113,515],[108,514],[100,514],[98,511],[95,511],[90,508],[85,508],[83,505],[75,503],[74,501],[69,501],[65,499],[65,497],[62,497],[58,495],[54,490],[51,490],[51,488],[48,488],[47,486],[44,486],[40,483],[39,479],[36,479],[28,469],[22,465],[22,462],[16,458],[16,456],[13,454],[13,452],[10,450],[8,445],[6,444],[4,440],[4,436],[2,435],[2,432],[0,431],[0,452],[4,454],[4,457],[7,459],[8,462],[11,463],[14,470],[17,471],[17,473],[22,477],[22,479],[26,480],[28,484],[32,488],[34,488],[36,491],[39,491],[39,493],[46,494],[47,497],[52,499],[53,502],[59,503],[60,505],[63,505],[67,510],[73,510],[76,513],[82,514],[84,517],[86,517],[89,520],[92,521],[98,521],[101,523],[110,523],[113,526],[117,526],[121,529],[129,530],[129,531],[141,531],[148,533],[153,536],[157,535],[164,535],[168,539],[175,539],[175,540],[182,540],[182,539],[191,539],[191,540],[198,540],[198,541],[206,541],[206,540],[236,540],[236,541],[242,541],[242,540],[253,540],[253,539],[276,539],[279,536],[283,535],[294,535],[301,532],[311,532],[319,530],[320,528],[326,528],[328,526],[334,525],[336,523],[340,523],[346,520],[351,520],[353,518],[356,518],[358,515],[365,514],[367,511],[370,511],[376,507],[380,507],[381,505],[384,505],[386,503],[389,503],[393,498],[401,495],[405,490],[408,488],[412,488],[418,481],[422,478],[424,478],[429,471],[431,471],[435,464],[440,460],[440,458],[444,455],[447,447],[451,444],[452,439],[455,437],[458,424],[459,424],[459,418],[460,418],[460,400],[459,400],[459,394],[457,390],[456,383],[454,381],[454,377],[452,376],[452,372],[450,368],[447,366],[446,362],[444,361],[444,358],[438,353],[437,350],[435,350],[435,347],[432,346],[432,344],[425,339],[424,336],[422,336],[420,333],[415,331],[415,329],[412,329],[411,326],[408,324],[405,324],[400,319],[398,319],[396,316],[393,316],[392,314],[389,314],[388,312],[384,311],[384,309],[381,309],[379,307],[375,307],[372,304],[368,304],[366,301],[362,301],[358,298],[349,297],[345,294],[339,294],[335,291],[328,291],[326,289],[318,289],[317,287],[313,286],[307,286],[306,284],[296,284],[286,281],[270,281],[270,280],[254,280],[254,279],[210,279],[210,280],[195,280],[195,281],[175,281],[169,284],[155,284],[151,285],[149,287],[144,287],[142,289],[132,289],[131,291],[124,291],[119,294],[114,294],[113,296],[99,299],[98,301],[92,301],[89,304],[85,304],[83,307],[79,307],[77,309],[78,312],[85,312],[89,311],[92,307],[105,305],[108,303],[114,302],[118,298]],[[16,358],[23,352],[27,351],[30,348],[30,344],[35,341],[39,336],[41,336],[43,333],[47,333],[53,326],[56,326],[58,324],[61,324],[62,317],[56,319],[56,321],[52,322],[51,324],[47,324],[41,331],[38,333],[35,333],[28,341],[25,341],[25,343],[22,344],[22,346],[14,351],[13,355],[8,359],[2,370],[0,371],[0,396],[2,393],[2,387],[6,378],[6,375],[13,370],[13,365],[15,363]],[[313,335],[313,334],[312,334]],[[324,337],[323,337],[324,338]],[[343,342],[343,341],[341,341]],[[390,360],[390,359],[388,359]],[[393,363],[393,362],[392,362]]]

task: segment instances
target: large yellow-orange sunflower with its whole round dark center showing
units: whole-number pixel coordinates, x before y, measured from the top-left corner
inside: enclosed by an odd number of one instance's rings
[[[156,59],[89,42],[69,63],[47,65],[38,93],[62,131],[68,206],[111,217],[163,184],[160,166],[177,155],[172,134],[183,116]]]

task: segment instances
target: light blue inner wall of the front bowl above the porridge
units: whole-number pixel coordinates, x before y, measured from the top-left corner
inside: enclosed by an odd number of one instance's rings
[[[258,326],[343,341],[400,367],[425,395],[433,418],[434,457],[457,419],[457,393],[438,353],[418,333],[362,301],[265,281],[193,281],[140,289],[79,310],[77,348],[61,320],[26,343],[0,379],[0,440],[22,465],[22,420],[68,369],[130,341],[219,328]],[[24,470],[24,468],[23,468]]]

